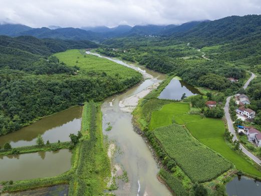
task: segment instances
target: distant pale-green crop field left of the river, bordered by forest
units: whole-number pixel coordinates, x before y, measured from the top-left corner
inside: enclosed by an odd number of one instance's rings
[[[67,50],[66,52],[56,53],[55,56],[66,65],[80,67],[81,70],[88,73],[100,72],[108,76],[117,76],[123,79],[141,75],[133,69],[114,63],[108,59],[87,55],[83,50]]]

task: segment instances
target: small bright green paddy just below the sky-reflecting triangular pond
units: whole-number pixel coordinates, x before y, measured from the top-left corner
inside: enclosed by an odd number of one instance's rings
[[[188,103],[170,103],[164,105],[161,110],[153,111],[151,113],[151,119],[149,129],[153,130],[157,127],[166,126],[172,124],[172,117],[175,114],[184,114],[189,111]]]

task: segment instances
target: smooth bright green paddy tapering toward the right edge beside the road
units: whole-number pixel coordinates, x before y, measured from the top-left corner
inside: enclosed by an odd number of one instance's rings
[[[189,122],[186,126],[195,138],[230,160],[237,169],[261,177],[261,172],[258,169],[225,143],[223,121],[205,118]]]

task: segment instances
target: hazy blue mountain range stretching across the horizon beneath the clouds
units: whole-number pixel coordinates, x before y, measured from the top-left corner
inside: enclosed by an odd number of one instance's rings
[[[91,40],[104,41],[116,37],[159,36],[168,39],[206,45],[240,40],[247,36],[261,33],[261,15],[247,15],[243,17],[231,16],[215,21],[192,21],[182,25],[136,25],[134,27],[120,25],[114,28],[105,26],[60,28],[31,28],[20,24],[0,25],[0,35],[11,37],[34,36],[36,38],[50,38],[60,40]]]

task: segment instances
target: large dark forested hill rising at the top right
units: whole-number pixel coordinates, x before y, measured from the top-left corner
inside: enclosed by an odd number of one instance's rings
[[[215,21],[199,23],[186,32],[175,34],[178,39],[201,48],[203,46],[238,41],[261,34],[261,15],[231,16]]]

